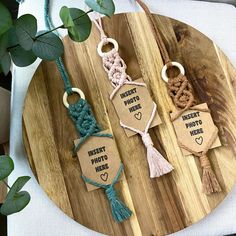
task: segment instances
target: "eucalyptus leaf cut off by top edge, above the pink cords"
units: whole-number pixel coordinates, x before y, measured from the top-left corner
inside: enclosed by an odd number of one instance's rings
[[[94,11],[112,16],[115,13],[115,4],[113,0],[85,0],[85,3]]]

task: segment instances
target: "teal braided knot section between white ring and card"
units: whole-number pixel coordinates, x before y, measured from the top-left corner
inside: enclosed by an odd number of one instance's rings
[[[100,131],[90,105],[83,99],[70,105],[69,115],[74,121],[81,137],[90,136]]]

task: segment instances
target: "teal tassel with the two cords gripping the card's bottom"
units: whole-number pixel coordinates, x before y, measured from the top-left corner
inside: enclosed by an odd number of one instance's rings
[[[116,222],[123,222],[127,220],[132,215],[132,211],[118,198],[114,185],[117,183],[121,172],[123,171],[124,166],[123,164],[120,165],[120,168],[116,174],[116,177],[112,181],[111,184],[100,184],[97,183],[86,176],[82,175],[82,178],[85,182],[92,184],[98,188],[105,189],[106,196],[110,202],[112,216]]]

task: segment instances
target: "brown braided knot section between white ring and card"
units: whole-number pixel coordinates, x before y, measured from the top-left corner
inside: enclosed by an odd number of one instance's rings
[[[168,80],[169,95],[178,109],[185,109],[195,105],[193,88],[186,76],[180,74]]]

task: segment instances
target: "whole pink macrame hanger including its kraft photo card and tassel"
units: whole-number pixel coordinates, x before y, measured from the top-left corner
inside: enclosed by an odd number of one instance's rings
[[[116,40],[112,38],[108,38],[103,30],[102,27],[102,21],[101,18],[99,17],[98,20],[94,21],[95,25],[99,29],[101,33],[101,41],[98,44],[97,51],[98,54],[102,57],[103,61],[103,67],[105,71],[108,74],[108,79],[113,87],[113,91],[110,94],[110,100],[113,101],[113,104],[116,108],[117,114],[119,116],[120,120],[120,125],[128,131],[132,131],[133,133],[138,133],[142,137],[143,144],[147,148],[147,159],[148,159],[148,164],[149,164],[149,169],[150,169],[150,177],[155,178],[162,176],[164,174],[167,174],[173,170],[172,165],[157,151],[157,149],[153,146],[152,139],[148,133],[149,128],[153,127],[152,124],[154,123],[154,120],[156,119],[155,117],[157,116],[157,106],[155,102],[152,101],[147,88],[146,84],[143,83],[142,81],[132,81],[130,76],[126,73],[126,64],[124,60],[120,57],[118,49],[118,43]],[[103,52],[103,46],[106,44],[111,43],[113,44],[114,48],[110,50],[109,52]],[[124,87],[129,88],[126,91],[122,91]],[[128,87],[129,86],[129,87]],[[142,116],[143,113],[137,112],[133,116],[130,115],[134,110],[141,108],[140,104],[136,104],[135,106],[126,109],[124,106],[127,106],[130,101],[138,101],[140,102],[141,98],[138,96],[138,90],[141,90],[142,88],[145,88],[145,94],[147,93],[147,97],[149,100],[146,100],[146,102],[143,102],[143,106],[152,106],[152,109],[149,111],[147,114],[147,122],[143,130],[135,128],[132,125],[129,125],[127,123],[124,123],[122,120],[123,118],[125,119],[125,112],[129,110],[127,113],[127,117],[131,117],[132,122],[131,124],[136,124],[136,126],[139,126],[140,123],[142,122]],[[123,101],[123,98],[129,97],[129,95],[135,94],[133,98],[130,98],[126,101]],[[119,100],[115,105],[115,100]],[[122,105],[123,104],[123,105]],[[125,105],[124,105],[125,104]],[[120,111],[118,112],[118,107]],[[122,116],[123,115],[123,116]],[[146,114],[145,114],[146,115]],[[139,122],[139,124],[137,124]],[[143,125],[143,124],[142,124]]]

